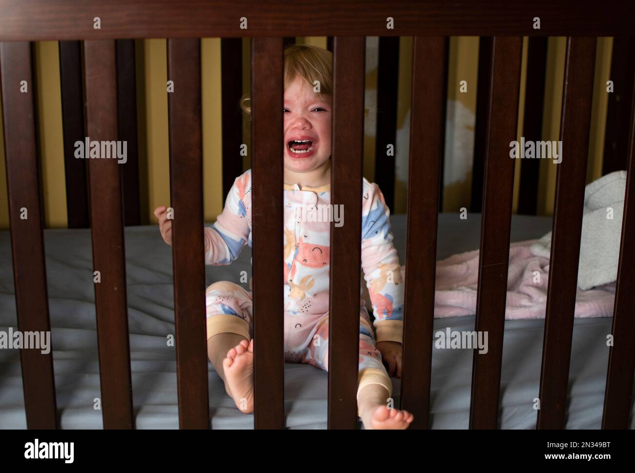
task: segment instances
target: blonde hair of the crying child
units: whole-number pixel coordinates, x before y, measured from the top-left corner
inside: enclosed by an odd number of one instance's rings
[[[326,95],[333,96],[333,53],[318,46],[290,44],[284,48],[284,90],[289,88],[295,77],[304,79],[311,88],[319,81],[320,98],[328,102]],[[243,114],[251,119],[250,94],[241,98],[239,105]]]

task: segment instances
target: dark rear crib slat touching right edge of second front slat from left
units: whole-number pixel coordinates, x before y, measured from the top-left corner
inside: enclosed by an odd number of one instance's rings
[[[127,161],[121,164],[124,225],[141,225],[139,155],[137,147],[137,74],[135,40],[117,39],[117,127],[127,143]]]

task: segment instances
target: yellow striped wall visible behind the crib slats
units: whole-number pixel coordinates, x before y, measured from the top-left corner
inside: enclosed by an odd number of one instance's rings
[[[326,48],[326,37],[298,37],[300,44]],[[604,147],[604,128],[608,94],[605,90],[609,78],[612,38],[598,39],[595,88],[592,102],[592,128],[589,143],[587,182],[601,177]],[[544,140],[558,140],[561,113],[562,85],[565,60],[565,37],[549,38],[547,57],[547,83],[543,120]],[[523,69],[518,137],[521,136],[525,107],[527,38],[523,43]],[[167,62],[166,40],[137,40],[137,100],[140,154],[140,196],[142,223],[155,223],[152,210],[170,203],[168,102],[166,97]],[[404,125],[411,97],[412,38],[401,37],[399,51],[398,126]],[[450,69],[448,70],[448,99],[462,103],[476,114],[476,81],[478,75],[478,37],[451,37]],[[57,41],[36,43],[35,74],[37,86],[37,117],[41,153],[41,192],[44,199],[45,223],[48,228],[67,227],[64,156],[62,145],[62,105],[60,98],[60,71]],[[215,220],[222,211],[221,173],[221,108],[220,101],[220,39],[206,38],[201,42],[202,114],[203,114],[203,171],[204,217]],[[243,91],[250,84],[250,39],[243,38]],[[468,83],[468,92],[459,93],[459,82]],[[377,70],[366,74],[366,87],[377,88]],[[2,130],[0,116],[0,131]],[[244,126],[244,142],[250,149],[249,125]],[[375,143],[373,136],[364,137],[364,175],[373,180]],[[243,169],[250,166],[250,157],[243,158]],[[547,159],[540,160],[538,214],[552,215],[557,166]],[[518,180],[520,161],[516,162],[513,209],[518,208]],[[406,183],[397,182],[395,213],[406,211]],[[445,187],[444,211],[469,208],[471,175],[464,182]],[[4,166],[3,133],[0,133],[0,229],[8,229],[8,202]]]

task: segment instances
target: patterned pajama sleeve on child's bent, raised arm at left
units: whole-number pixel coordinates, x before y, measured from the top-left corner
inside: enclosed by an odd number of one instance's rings
[[[225,208],[211,227],[204,227],[205,264],[227,265],[234,261],[250,239],[250,206],[244,198],[251,190],[250,172],[234,180]]]

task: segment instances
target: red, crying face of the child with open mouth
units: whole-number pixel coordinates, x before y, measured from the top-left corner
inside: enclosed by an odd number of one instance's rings
[[[284,167],[304,173],[331,156],[331,100],[313,91],[301,77],[284,91]],[[309,140],[297,143],[297,140]]]

